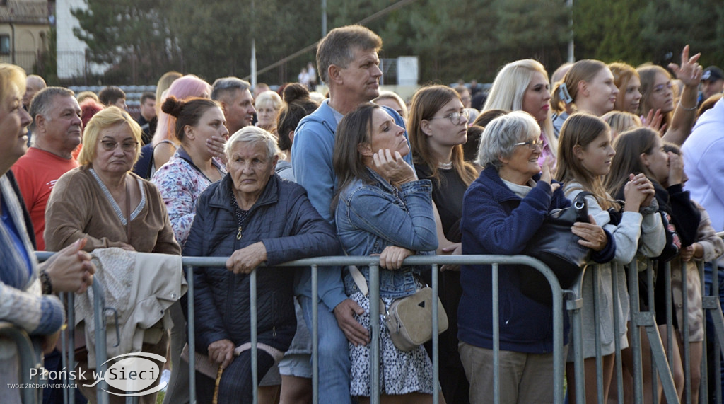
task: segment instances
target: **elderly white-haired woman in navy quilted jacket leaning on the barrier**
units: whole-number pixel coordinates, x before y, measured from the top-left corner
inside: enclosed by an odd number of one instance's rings
[[[219,403],[251,402],[249,274],[256,276],[258,374],[266,374],[289,347],[296,330],[294,272],[275,265],[338,252],[332,227],[306,191],[274,174],[279,148],[271,133],[244,127],[226,145],[227,171],[198,199],[184,248],[186,256],[224,256],[225,267],[194,269],[198,353],[220,366]],[[219,309],[223,308],[223,309]],[[198,372],[201,402],[214,397],[214,376]]]

